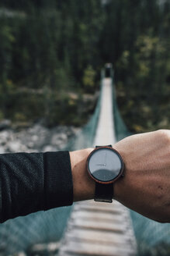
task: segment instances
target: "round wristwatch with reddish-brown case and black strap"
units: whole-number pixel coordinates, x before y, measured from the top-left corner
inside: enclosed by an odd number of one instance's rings
[[[87,169],[95,180],[95,201],[112,203],[113,183],[123,176],[124,163],[118,151],[108,146],[96,146],[88,155]]]

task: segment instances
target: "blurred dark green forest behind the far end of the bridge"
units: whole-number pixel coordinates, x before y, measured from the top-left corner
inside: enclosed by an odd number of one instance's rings
[[[170,126],[169,0],[0,2],[0,120],[82,126],[113,63],[133,133]]]

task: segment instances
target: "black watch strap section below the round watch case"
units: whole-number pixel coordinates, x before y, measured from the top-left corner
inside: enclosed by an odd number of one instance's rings
[[[95,182],[95,201],[112,203],[113,183],[101,184]]]

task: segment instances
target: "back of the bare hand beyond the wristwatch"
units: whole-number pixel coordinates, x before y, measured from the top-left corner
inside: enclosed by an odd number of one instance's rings
[[[114,194],[128,208],[158,222],[170,222],[170,130],[127,137],[113,148],[125,163]]]

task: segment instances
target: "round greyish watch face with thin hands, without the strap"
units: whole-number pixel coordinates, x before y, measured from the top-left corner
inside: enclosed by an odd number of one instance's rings
[[[88,170],[95,180],[110,182],[119,176],[123,163],[112,148],[98,148],[88,159]]]

